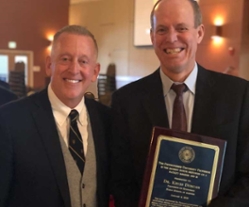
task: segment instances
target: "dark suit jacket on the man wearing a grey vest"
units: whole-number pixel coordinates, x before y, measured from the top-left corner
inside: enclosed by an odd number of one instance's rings
[[[97,160],[97,202],[108,206],[109,109],[85,99]],[[47,90],[0,109],[0,206],[70,207],[66,169]]]

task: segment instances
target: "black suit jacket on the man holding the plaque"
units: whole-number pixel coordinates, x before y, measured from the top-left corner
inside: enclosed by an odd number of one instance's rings
[[[210,206],[249,206],[248,89],[245,80],[198,66],[191,132],[227,140],[219,196]],[[117,207],[130,207],[122,203],[128,202],[123,200],[134,193],[135,186],[124,188],[135,182],[138,200],[152,127],[169,127],[159,70],[121,88],[112,101],[116,125],[113,194]]]

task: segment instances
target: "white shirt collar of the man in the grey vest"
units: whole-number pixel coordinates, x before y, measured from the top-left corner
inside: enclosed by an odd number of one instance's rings
[[[59,126],[62,126],[65,121],[67,120],[67,117],[69,113],[71,112],[71,108],[66,106],[64,103],[60,101],[60,99],[55,95],[54,91],[51,88],[51,84],[48,86],[48,98],[51,103],[51,107],[53,110],[54,118],[56,123]],[[86,114],[86,107],[85,107],[85,99],[84,96],[80,103],[74,108],[79,113],[79,123],[83,125],[83,116]],[[83,114],[83,115],[82,115]]]

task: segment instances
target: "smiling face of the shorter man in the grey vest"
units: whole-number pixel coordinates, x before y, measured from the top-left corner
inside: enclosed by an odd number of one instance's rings
[[[100,65],[91,37],[61,34],[46,59],[46,73],[51,77],[55,95],[70,108],[81,101],[91,82],[96,81]]]

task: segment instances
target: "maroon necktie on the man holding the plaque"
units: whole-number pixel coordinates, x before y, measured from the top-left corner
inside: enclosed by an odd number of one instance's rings
[[[173,106],[172,129],[187,131],[187,118],[182,95],[188,88],[185,84],[173,84],[171,88],[176,93]]]

